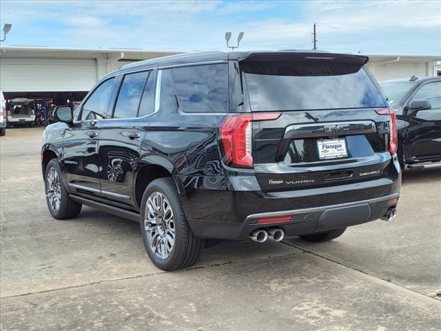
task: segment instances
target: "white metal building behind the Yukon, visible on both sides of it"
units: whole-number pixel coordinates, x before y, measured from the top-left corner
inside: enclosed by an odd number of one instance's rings
[[[126,63],[171,54],[177,52],[6,46],[0,48],[0,90],[6,99],[50,98],[58,104],[81,100],[108,72]],[[369,70],[379,81],[441,72],[441,56],[368,56]]]

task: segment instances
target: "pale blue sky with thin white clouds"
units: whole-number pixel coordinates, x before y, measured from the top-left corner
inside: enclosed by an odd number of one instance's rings
[[[440,54],[441,1],[0,1],[2,46]],[[3,34],[2,34],[3,37]]]

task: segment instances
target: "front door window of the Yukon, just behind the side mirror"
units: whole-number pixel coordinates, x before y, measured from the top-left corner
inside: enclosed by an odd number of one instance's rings
[[[81,120],[105,118],[114,83],[114,78],[107,79],[107,81],[101,83],[101,85],[92,92],[88,101],[85,101],[83,106]]]

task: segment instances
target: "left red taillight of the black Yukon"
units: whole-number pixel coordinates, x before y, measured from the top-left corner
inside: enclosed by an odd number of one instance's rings
[[[225,163],[239,168],[253,168],[252,121],[278,119],[280,112],[228,116],[219,128]]]

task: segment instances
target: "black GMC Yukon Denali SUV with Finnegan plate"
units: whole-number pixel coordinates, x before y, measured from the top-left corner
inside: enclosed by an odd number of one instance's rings
[[[396,118],[367,61],[210,52],[107,74],[45,130],[50,213],[90,205],[140,221],[164,270],[192,265],[205,239],[327,241],[392,219]]]

